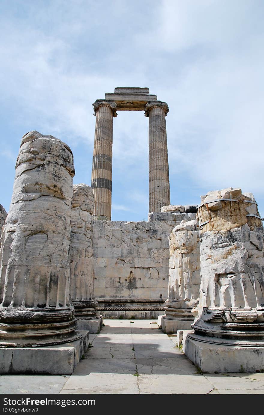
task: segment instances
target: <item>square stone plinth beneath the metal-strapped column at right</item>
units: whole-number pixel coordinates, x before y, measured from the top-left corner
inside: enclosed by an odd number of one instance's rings
[[[193,337],[193,338],[190,338]],[[197,338],[197,339],[194,339]],[[195,334],[185,339],[184,353],[205,373],[262,372],[264,371],[264,347],[212,344]]]

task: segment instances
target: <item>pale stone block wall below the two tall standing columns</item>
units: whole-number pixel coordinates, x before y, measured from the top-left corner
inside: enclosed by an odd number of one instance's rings
[[[168,237],[175,225],[193,216],[193,213],[185,213],[183,207],[183,212],[149,213],[148,222],[94,221],[95,297],[99,306],[104,302],[104,309],[114,316],[119,310],[117,300],[123,300],[124,311],[128,311],[128,300],[133,300],[133,311],[136,308],[142,309],[137,311],[157,311],[143,314],[142,318],[161,314],[168,296]],[[111,300],[115,300],[115,305]],[[136,305],[135,300],[139,300],[141,306]],[[107,318],[104,309],[99,307]]]

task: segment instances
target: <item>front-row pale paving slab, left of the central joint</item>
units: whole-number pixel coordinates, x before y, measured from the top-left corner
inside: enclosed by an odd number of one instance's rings
[[[128,374],[72,375],[60,393],[138,394],[137,380],[138,376]]]

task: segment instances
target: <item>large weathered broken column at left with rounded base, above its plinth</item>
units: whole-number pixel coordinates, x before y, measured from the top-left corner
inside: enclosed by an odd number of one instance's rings
[[[37,131],[22,138],[0,250],[0,347],[81,338],[69,298],[73,155]]]

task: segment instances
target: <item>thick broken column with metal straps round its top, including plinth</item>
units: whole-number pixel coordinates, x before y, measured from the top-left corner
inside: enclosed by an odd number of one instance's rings
[[[228,188],[207,194],[198,214],[200,302],[185,353],[202,371],[263,370],[264,229],[257,204]]]

